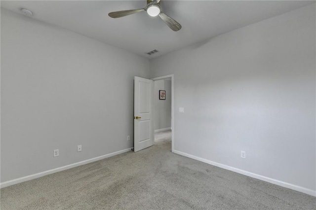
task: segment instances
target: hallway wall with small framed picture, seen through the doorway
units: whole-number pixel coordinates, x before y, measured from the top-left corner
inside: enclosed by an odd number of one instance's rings
[[[159,100],[159,90],[166,91],[166,99]],[[154,130],[171,127],[171,81],[160,79],[154,81]]]

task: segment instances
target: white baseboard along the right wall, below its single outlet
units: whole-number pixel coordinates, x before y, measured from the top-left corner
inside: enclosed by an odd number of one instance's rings
[[[273,178],[269,178],[269,177],[266,177],[266,176],[263,176],[263,175],[257,175],[257,174],[254,174],[254,173],[251,173],[251,172],[247,172],[247,171],[244,171],[244,170],[241,170],[241,169],[237,169],[237,168],[234,168],[234,167],[231,167],[231,166],[227,166],[227,165],[224,165],[224,164],[221,164],[221,163],[216,163],[216,162],[213,162],[213,161],[210,161],[210,160],[206,160],[204,158],[200,158],[200,157],[197,157],[197,156],[194,156],[194,155],[190,155],[190,154],[187,154],[187,153],[184,153],[184,152],[180,152],[178,150],[173,150],[172,152],[174,152],[176,154],[179,154],[179,155],[182,155],[182,156],[185,156],[185,157],[188,157],[188,158],[192,158],[192,159],[201,161],[203,163],[207,163],[207,164],[212,165],[212,166],[217,166],[217,167],[222,168],[222,169],[226,169],[226,170],[229,170],[229,171],[232,171],[232,172],[236,172],[238,174],[250,176],[252,178],[260,179],[262,181],[266,181],[266,182],[269,182],[269,183],[272,183],[272,184],[276,184],[276,185],[281,186],[281,187],[289,188],[289,189],[296,190],[296,191],[299,191],[299,192],[302,192],[302,193],[305,193],[305,194],[308,194],[308,195],[316,197],[316,191],[312,190],[312,189],[308,189],[308,188],[301,187],[301,186],[298,186],[298,185],[290,184],[290,183],[287,183],[287,182],[284,182],[284,181],[280,181],[280,180],[276,180],[276,179],[273,179]]]

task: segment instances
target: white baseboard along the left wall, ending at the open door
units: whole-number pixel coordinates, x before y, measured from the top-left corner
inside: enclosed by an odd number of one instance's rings
[[[59,168],[56,168],[56,169],[51,169],[51,170],[40,172],[40,173],[37,173],[37,174],[27,175],[27,176],[23,176],[21,178],[16,178],[16,179],[4,181],[4,182],[0,183],[0,188],[7,187],[7,186],[10,186],[10,185],[14,185],[14,184],[18,184],[18,183],[21,183],[21,182],[24,182],[24,181],[29,181],[29,180],[32,180],[32,179],[35,179],[35,178],[42,177],[44,175],[50,175],[50,174],[54,174],[56,172],[61,172],[61,171],[67,170],[67,169],[75,168],[77,166],[81,166],[81,165],[84,165],[84,164],[92,163],[92,162],[95,162],[95,161],[98,161],[98,160],[102,160],[104,158],[112,157],[114,155],[118,155],[118,154],[121,154],[121,153],[124,153],[124,152],[131,151],[132,148],[133,147],[127,148],[127,149],[123,149],[123,150],[120,150],[120,151],[117,151],[117,152],[112,152],[110,154],[102,155],[102,156],[91,158],[91,159],[84,160],[84,161],[80,161],[78,163],[73,163],[73,164],[70,164],[70,165],[67,165],[67,166],[62,166],[62,167],[59,167]]]

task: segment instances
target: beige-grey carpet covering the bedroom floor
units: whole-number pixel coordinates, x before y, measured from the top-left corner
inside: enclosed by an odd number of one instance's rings
[[[316,198],[170,152],[169,140],[1,189],[1,210],[315,210]]]

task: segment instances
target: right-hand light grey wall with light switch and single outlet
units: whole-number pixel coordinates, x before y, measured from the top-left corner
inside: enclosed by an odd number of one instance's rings
[[[311,4],[152,60],[174,74],[175,151],[315,194],[315,25]]]

